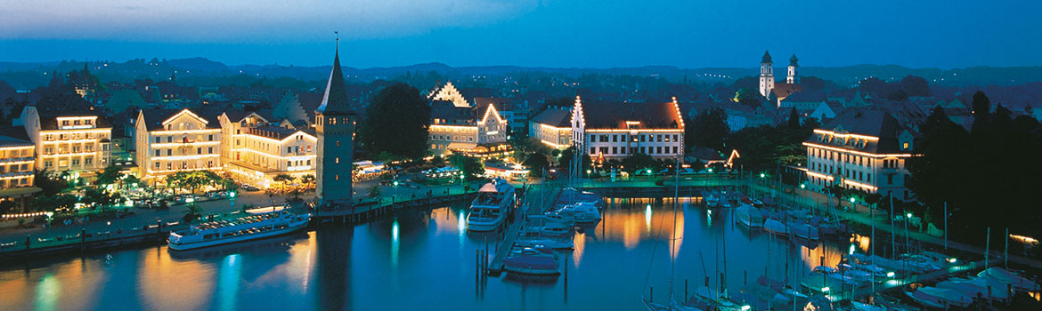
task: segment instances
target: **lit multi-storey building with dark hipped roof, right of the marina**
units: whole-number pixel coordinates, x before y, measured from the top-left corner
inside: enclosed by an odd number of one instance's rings
[[[920,134],[884,110],[847,109],[803,141],[811,189],[830,185],[912,200],[905,161]]]

